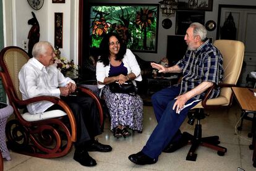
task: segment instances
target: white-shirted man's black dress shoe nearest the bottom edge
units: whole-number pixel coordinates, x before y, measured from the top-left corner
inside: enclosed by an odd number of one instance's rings
[[[94,166],[97,164],[87,151],[80,149],[75,149],[74,160],[84,166]]]

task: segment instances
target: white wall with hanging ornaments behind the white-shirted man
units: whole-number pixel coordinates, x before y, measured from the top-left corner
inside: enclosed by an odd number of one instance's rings
[[[54,12],[63,12],[63,48],[59,50],[61,56],[77,61],[77,49],[75,49],[77,46],[74,46],[77,44],[77,36],[74,35],[78,28],[78,25],[74,25],[78,20],[75,15],[78,13],[78,10],[75,11],[77,6],[78,0],[67,0],[64,4],[53,4],[51,0],[45,0],[40,10],[33,10],[27,0],[12,0],[13,45],[22,48],[22,40],[27,40],[28,32],[32,27],[27,22],[33,17],[31,13],[33,11],[40,25],[40,41],[49,41],[54,46]]]

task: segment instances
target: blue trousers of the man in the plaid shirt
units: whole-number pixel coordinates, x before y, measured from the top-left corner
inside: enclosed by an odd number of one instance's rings
[[[158,124],[142,152],[153,159],[157,160],[163,149],[175,138],[174,136],[179,135],[179,127],[186,119],[187,112],[198,103],[194,102],[191,106],[182,109],[180,114],[177,114],[176,109],[173,110],[173,105],[176,102],[174,98],[179,95],[180,90],[180,86],[172,86],[156,92],[151,97]],[[193,98],[189,99],[186,104],[194,100]]]

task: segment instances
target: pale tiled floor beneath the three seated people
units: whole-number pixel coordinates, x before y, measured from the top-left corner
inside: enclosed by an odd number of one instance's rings
[[[111,152],[90,152],[90,155],[96,159],[95,167],[83,167],[75,162],[72,157],[74,149],[67,155],[58,159],[39,159],[30,156],[23,156],[11,152],[11,161],[4,161],[4,170],[237,170],[242,169],[256,170],[252,166],[252,151],[249,144],[252,138],[247,138],[251,122],[245,120],[244,128],[237,136],[234,134],[234,127],[239,120],[241,110],[237,104],[231,109],[215,109],[207,111],[210,116],[202,121],[203,136],[219,135],[221,146],[228,148],[224,156],[218,156],[215,151],[200,147],[197,150],[197,161],[186,161],[189,146],[173,153],[162,153],[158,162],[153,165],[135,165],[129,161],[128,156],[140,151],[148,140],[150,133],[155,128],[156,120],[153,115],[153,109],[150,106],[144,107],[143,133],[134,133],[129,138],[113,137],[109,131],[109,123],[106,120],[104,133],[97,138],[101,143],[111,144]],[[193,133],[194,127],[184,122],[182,131]]]

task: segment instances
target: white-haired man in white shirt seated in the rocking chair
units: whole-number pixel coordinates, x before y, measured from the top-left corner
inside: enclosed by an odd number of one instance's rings
[[[74,160],[85,166],[96,165],[96,161],[89,156],[88,151],[108,152],[112,148],[95,140],[95,136],[101,133],[95,102],[88,96],[69,96],[76,90],[75,81],[64,77],[56,66],[52,65],[55,54],[50,43],[47,41],[36,43],[32,55],[33,57],[19,72],[22,99],[36,96],[55,96],[63,99],[72,110],[77,123]],[[30,114],[63,110],[48,101],[35,102],[28,105],[27,109]]]

